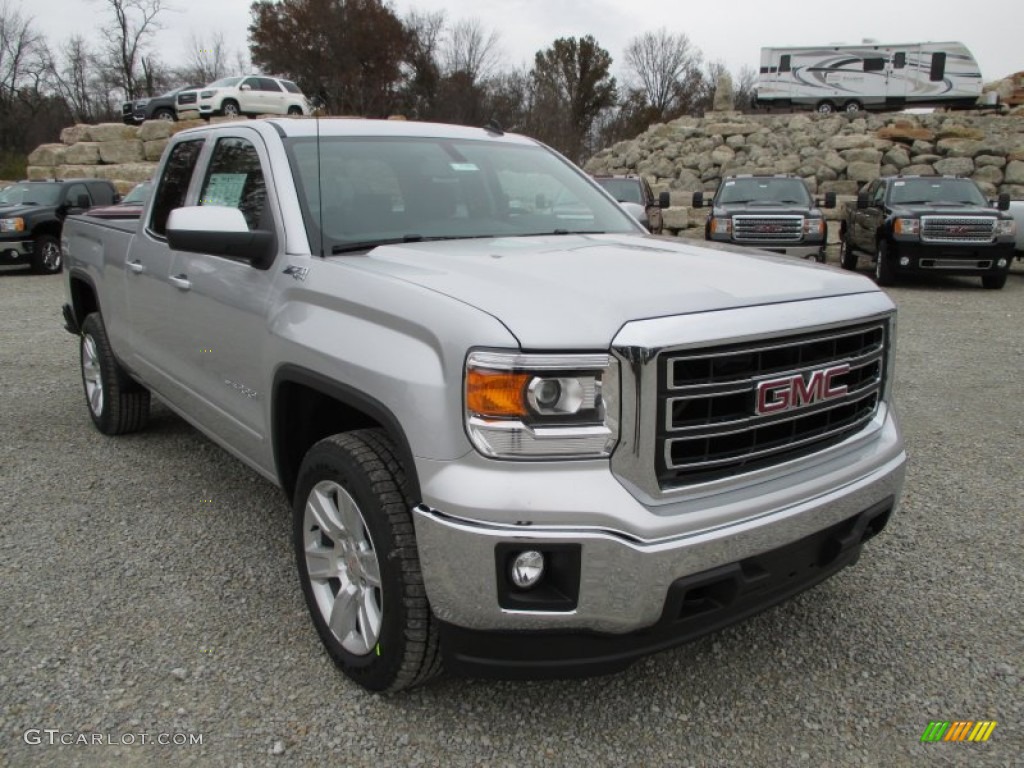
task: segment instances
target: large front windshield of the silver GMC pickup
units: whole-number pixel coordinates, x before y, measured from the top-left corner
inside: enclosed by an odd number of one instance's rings
[[[537,144],[322,138],[317,174],[315,138],[286,143],[315,251],[321,245],[342,253],[385,242],[637,231],[579,169]]]

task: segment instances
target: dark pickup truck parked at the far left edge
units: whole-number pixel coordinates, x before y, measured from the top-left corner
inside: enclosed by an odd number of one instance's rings
[[[60,230],[72,213],[120,200],[104,179],[22,181],[0,193],[0,264],[31,263],[43,274],[63,265]]]

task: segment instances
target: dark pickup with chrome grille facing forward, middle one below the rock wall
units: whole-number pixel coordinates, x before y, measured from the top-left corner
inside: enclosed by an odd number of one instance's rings
[[[703,208],[703,193],[693,207]],[[825,260],[827,228],[821,208],[836,196],[815,201],[807,183],[791,174],[726,176],[705,221],[705,240],[760,248],[805,259]]]

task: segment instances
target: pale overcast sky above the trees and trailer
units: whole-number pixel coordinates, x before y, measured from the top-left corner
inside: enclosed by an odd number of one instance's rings
[[[165,0],[156,38],[162,58],[180,63],[190,32],[221,31],[232,49],[248,51],[250,0]],[[10,0],[8,0],[10,2]],[[35,17],[53,47],[110,17],[105,0],[13,0]],[[986,82],[1024,70],[1024,2],[987,0],[394,0],[399,16],[416,8],[444,10],[450,20],[478,18],[499,32],[507,67],[526,65],[559,37],[593,35],[611,53],[614,74],[629,41],[665,27],[685,33],[706,59],[735,75],[757,69],[763,46],[958,40],[974,52]],[[233,56],[231,58],[233,60]]]

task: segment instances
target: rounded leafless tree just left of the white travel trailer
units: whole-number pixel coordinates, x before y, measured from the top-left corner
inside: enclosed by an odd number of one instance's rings
[[[674,116],[687,85],[699,75],[702,55],[686,35],[662,28],[633,38],[625,57],[631,84],[644,94],[653,117],[665,119]]]

